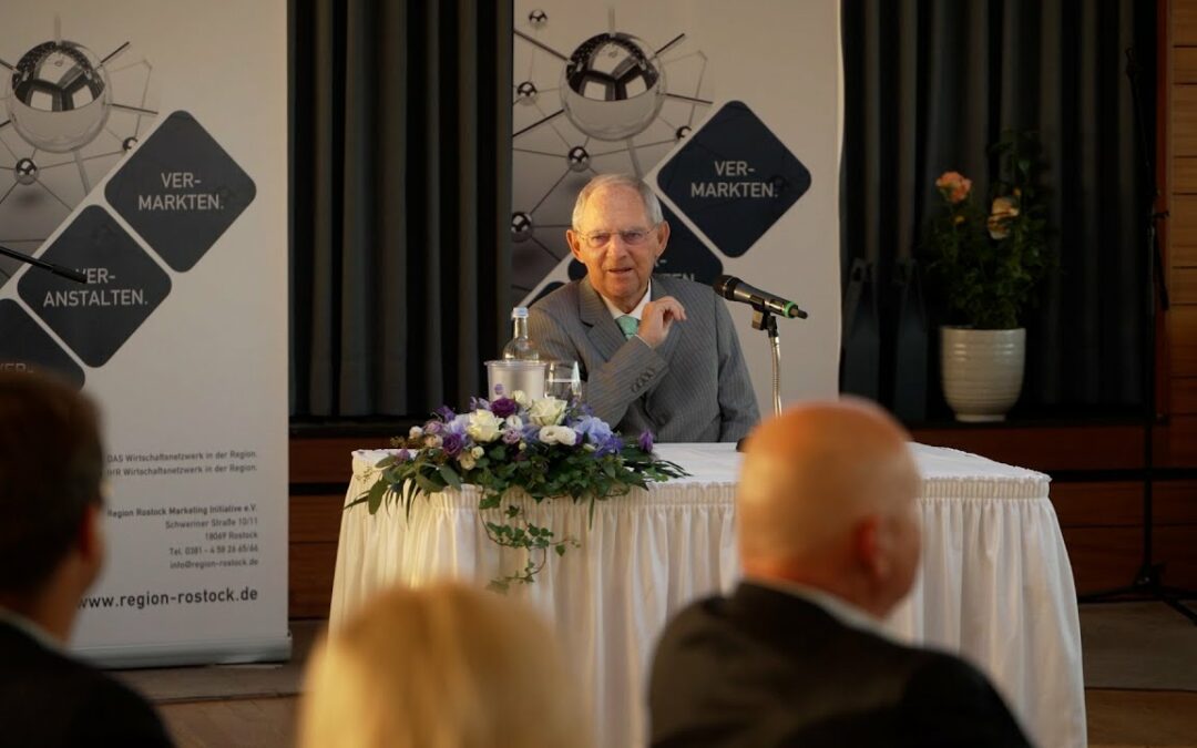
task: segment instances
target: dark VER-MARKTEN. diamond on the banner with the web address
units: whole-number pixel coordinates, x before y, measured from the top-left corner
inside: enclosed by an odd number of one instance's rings
[[[186,111],[166,117],[104,190],[117,214],[178,272],[192,269],[256,194],[249,175]]]

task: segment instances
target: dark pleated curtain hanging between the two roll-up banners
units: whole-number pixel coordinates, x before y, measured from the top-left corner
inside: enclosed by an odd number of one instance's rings
[[[464,405],[508,336],[511,4],[290,11],[291,413]]]

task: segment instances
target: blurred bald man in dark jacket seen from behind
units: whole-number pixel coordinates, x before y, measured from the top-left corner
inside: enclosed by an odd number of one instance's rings
[[[652,746],[1028,744],[977,669],[881,628],[919,559],[907,440],[863,401],[753,432],[736,491],[746,578],[667,627]]]

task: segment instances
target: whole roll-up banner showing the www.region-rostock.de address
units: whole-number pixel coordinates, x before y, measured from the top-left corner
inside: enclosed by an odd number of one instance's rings
[[[5,0],[0,367],[99,401],[107,665],[285,658],[286,1]]]

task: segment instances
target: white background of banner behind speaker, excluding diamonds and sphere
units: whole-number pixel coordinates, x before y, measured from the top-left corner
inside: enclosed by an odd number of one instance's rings
[[[540,25],[530,14],[547,16]],[[612,23],[614,22],[614,23]],[[514,41],[514,211],[533,218],[530,239],[516,243],[516,275],[521,263],[564,257],[541,273],[524,272],[527,293],[536,298],[546,285],[567,280],[569,249],[564,231],[578,189],[597,172],[633,171],[625,142],[588,139],[566,115],[536,124],[560,109],[559,86],[565,61],[528,41],[531,37],[569,57],[587,38],[614,30],[639,37],[651,50],[678,35],[667,61],[670,93],[713,102],[699,107],[699,118],[722,103],[745,102],[810,171],[812,186],[780,219],[740,257],[713,254],[722,272],[796,302],[809,320],[779,321],[783,405],[838,393],[840,337],[839,154],[841,68],[837,0],[661,0],[578,4],[566,0],[516,0]],[[524,37],[521,37],[524,35]],[[518,85],[533,80],[536,102],[519,102]],[[697,92],[697,93],[695,93]],[[662,114],[672,126],[686,114],[667,102]],[[695,121],[697,126],[698,122]],[[533,127],[535,126],[535,127]],[[530,128],[523,134],[521,130]],[[695,127],[697,129],[697,127]],[[673,128],[654,126],[632,139],[642,174],[650,175],[668,158]],[[589,169],[572,172],[566,154],[585,145]],[[678,147],[681,147],[679,144]],[[535,207],[535,209],[533,209]],[[514,226],[515,229],[515,226]],[[666,251],[669,259],[669,250]],[[539,280],[529,280],[534,276]],[[530,286],[528,288],[527,286]],[[767,339],[752,329],[752,310],[730,304],[740,342],[752,371],[762,415],[771,413],[772,365]]]

